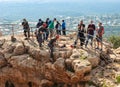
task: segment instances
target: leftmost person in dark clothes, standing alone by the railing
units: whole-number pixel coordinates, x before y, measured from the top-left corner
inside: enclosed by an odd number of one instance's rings
[[[22,26],[24,30],[24,36],[26,37],[25,40],[27,40],[30,38],[30,27],[26,19],[23,19]]]

